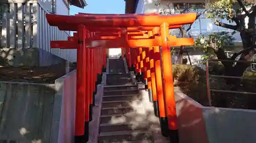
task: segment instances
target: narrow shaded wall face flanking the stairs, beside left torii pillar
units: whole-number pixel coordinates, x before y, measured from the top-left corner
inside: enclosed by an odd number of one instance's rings
[[[55,80],[51,141],[72,143],[75,134],[76,70]]]

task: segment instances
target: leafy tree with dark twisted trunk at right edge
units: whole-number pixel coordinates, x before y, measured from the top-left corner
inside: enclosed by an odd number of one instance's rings
[[[230,23],[222,23],[216,21],[215,25],[233,30],[232,33],[219,32],[210,34],[208,37],[201,36],[195,40],[195,45],[203,47],[204,52],[209,56],[216,56],[219,60],[238,59],[245,62],[228,62],[222,61],[223,75],[241,77],[245,70],[250,66],[249,61],[252,60],[256,53],[255,38],[255,17],[256,4],[245,2],[243,0],[219,0],[216,3],[210,3],[207,10],[208,17],[215,19],[227,19]],[[248,23],[246,23],[248,17]],[[231,24],[231,22],[235,24]],[[224,53],[224,49],[233,44],[232,35],[236,32],[240,33],[243,49],[233,53],[228,58]],[[229,80],[230,81],[230,80]],[[233,80],[232,80],[233,81]]]

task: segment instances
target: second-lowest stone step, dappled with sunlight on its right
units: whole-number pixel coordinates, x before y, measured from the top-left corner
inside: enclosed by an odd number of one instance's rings
[[[100,132],[115,132],[115,131],[129,131],[129,130],[144,130],[147,131],[148,127],[137,125],[134,122],[125,123],[104,123],[99,126]]]

